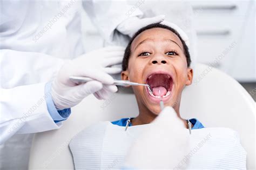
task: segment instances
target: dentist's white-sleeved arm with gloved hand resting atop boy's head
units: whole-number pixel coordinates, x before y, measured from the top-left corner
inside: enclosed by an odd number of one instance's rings
[[[143,3],[138,1],[136,5],[129,5],[126,1],[84,1],[83,7],[100,35],[111,43],[117,31],[132,37],[140,28],[164,20],[163,15],[141,18],[143,12],[138,6]]]

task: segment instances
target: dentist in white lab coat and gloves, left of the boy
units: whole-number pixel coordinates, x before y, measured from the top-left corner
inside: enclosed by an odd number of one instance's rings
[[[122,62],[124,49],[112,46],[85,53],[82,6],[106,43],[117,36],[131,37],[164,16],[142,18],[138,6],[118,1],[0,3],[0,152],[5,155],[0,161],[4,167],[26,169],[22,152],[29,153],[28,133],[59,128],[70,107],[89,94],[106,99],[117,91],[109,74],[121,71],[112,66]],[[70,75],[95,81],[78,85]],[[11,165],[10,158],[15,160]]]

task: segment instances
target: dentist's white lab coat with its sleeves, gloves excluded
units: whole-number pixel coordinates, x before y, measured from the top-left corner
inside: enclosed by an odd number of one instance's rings
[[[3,155],[4,148],[18,145],[11,145],[9,138],[12,135],[49,131],[62,125],[54,123],[50,117],[44,99],[44,86],[56,76],[65,59],[84,53],[80,26],[81,4],[76,0],[1,1],[2,166],[10,164],[6,155]],[[114,29],[127,18],[125,12],[131,8],[124,2],[111,1],[85,1],[83,6],[107,42],[112,40]],[[142,12],[137,9],[130,17],[138,15],[142,15]],[[9,141],[5,142],[7,139]],[[15,149],[11,152],[14,156]],[[13,165],[8,167],[25,168],[18,159],[11,162]]]

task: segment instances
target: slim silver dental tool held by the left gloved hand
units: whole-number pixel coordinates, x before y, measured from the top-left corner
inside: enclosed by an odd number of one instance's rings
[[[88,81],[92,81],[94,79],[89,78],[89,77],[79,77],[79,76],[70,76],[70,80],[72,80],[75,83],[86,83]],[[119,85],[119,86],[147,86],[149,87],[149,90],[152,92],[150,85],[148,84],[141,84],[141,83],[135,83],[131,82],[129,80],[116,80],[114,79],[114,85]]]

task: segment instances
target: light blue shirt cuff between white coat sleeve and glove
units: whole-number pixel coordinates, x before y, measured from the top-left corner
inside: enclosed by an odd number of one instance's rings
[[[48,108],[48,112],[50,113],[55,123],[66,120],[71,113],[71,109],[65,108],[63,110],[58,111],[53,103],[53,100],[50,94],[51,94],[51,82],[45,84],[45,101]]]

